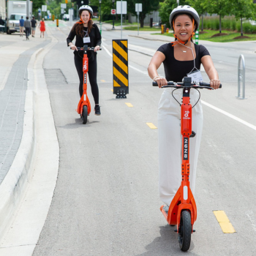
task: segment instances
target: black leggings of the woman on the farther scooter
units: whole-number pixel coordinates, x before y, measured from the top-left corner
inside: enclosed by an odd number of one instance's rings
[[[78,71],[79,83],[79,94],[80,97],[83,95],[83,59],[79,56],[74,56],[75,67]],[[99,88],[97,84],[97,55],[95,54],[94,61],[89,61],[89,81],[91,84],[91,93],[94,97],[95,104],[99,104]]]

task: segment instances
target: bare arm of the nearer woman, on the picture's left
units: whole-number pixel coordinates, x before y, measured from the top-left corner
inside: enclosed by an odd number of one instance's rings
[[[154,53],[154,56],[148,65],[148,75],[151,79],[157,82],[159,88],[167,85],[167,80],[165,78],[161,78],[157,73],[157,69],[163,61],[165,61],[165,54],[157,51]]]

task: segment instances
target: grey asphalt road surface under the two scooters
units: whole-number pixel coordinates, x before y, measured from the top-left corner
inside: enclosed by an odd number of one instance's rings
[[[116,99],[112,59],[106,50],[99,52],[102,115],[91,113],[83,125],[75,112],[78,77],[66,44],[69,29],[51,30],[59,44],[45,57],[44,69],[60,145],[59,176],[33,255],[183,255],[174,228],[159,211],[157,129],[146,122],[157,126],[162,91],[146,75],[151,57],[129,50],[129,94]],[[163,44],[129,37],[131,33],[123,31],[123,38],[140,48],[157,50]],[[120,38],[120,31],[103,30],[102,37],[111,53],[111,41]],[[223,89],[201,91],[203,101],[256,126],[255,42],[204,45]],[[244,100],[236,99],[241,53],[247,67]],[[162,67],[159,73],[164,74]],[[89,98],[92,102],[90,90]],[[187,255],[255,255],[256,130],[207,105],[203,112],[196,232]],[[214,210],[225,211],[236,233],[222,233]]]

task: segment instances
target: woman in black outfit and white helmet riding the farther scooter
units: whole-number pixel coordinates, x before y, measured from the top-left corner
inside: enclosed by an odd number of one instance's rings
[[[74,50],[75,67],[78,71],[80,80],[79,93],[80,97],[83,95],[83,52],[78,52],[78,48],[83,48],[83,45],[94,47],[94,52],[89,51],[87,56],[89,58],[89,81],[91,84],[91,93],[95,102],[95,115],[100,115],[99,108],[99,88],[97,85],[97,50],[102,42],[102,37],[96,24],[93,23],[91,17],[93,11],[89,5],[83,5],[79,8],[80,20],[74,24],[69,36],[67,37],[67,46]],[[75,38],[75,45],[72,40]]]

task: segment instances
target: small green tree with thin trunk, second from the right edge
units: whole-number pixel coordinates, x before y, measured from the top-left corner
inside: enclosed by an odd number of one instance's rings
[[[222,18],[230,14],[230,2],[233,0],[206,0],[203,6],[206,7],[208,13],[219,15],[219,34],[222,33]],[[245,0],[246,1],[246,0]]]

